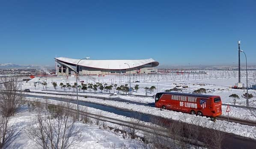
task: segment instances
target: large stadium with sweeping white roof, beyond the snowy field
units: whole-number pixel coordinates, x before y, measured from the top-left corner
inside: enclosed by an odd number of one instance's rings
[[[55,58],[57,75],[107,75],[129,73],[157,73],[154,67],[159,65],[152,58],[140,60],[88,60],[59,57]],[[78,65],[77,65],[78,63]]]

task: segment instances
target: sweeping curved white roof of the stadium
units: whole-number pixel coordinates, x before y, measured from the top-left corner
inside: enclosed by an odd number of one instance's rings
[[[57,61],[67,63],[70,65],[76,65],[80,59],[73,58],[65,58],[59,57],[55,58]],[[129,69],[134,67],[142,67],[143,65],[150,64],[148,67],[156,67],[159,65],[158,61],[155,61],[152,58],[149,59],[140,59],[140,60],[81,60],[79,62],[79,66],[91,67],[91,68],[100,68],[100,69],[112,69],[112,70],[120,70],[120,69]]]

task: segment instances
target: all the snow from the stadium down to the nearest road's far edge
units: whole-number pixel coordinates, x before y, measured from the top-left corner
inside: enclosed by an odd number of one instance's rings
[[[191,93],[196,89],[199,88],[205,88],[207,90],[207,94],[211,95],[218,95],[221,97],[222,102],[226,104],[232,105],[233,99],[229,97],[232,93],[238,94],[240,96],[240,99],[237,99],[236,104],[237,105],[246,105],[246,99],[241,97],[244,93],[246,93],[246,90],[241,89],[231,89],[230,86],[235,85],[235,83],[238,81],[238,72],[237,71],[205,71],[206,73],[198,73],[194,74],[188,74],[184,73],[183,75],[177,74],[177,73],[170,73],[170,74],[153,74],[153,75],[132,75],[131,76],[131,86],[139,85],[139,90],[137,92],[133,92],[133,94],[139,94],[139,95],[145,95],[145,87],[155,86],[157,87],[156,90],[152,91],[152,93],[148,93],[148,95],[152,96],[157,92],[162,92],[170,88],[176,87],[176,85],[187,85],[188,88],[182,88],[182,92],[184,93]],[[249,85],[252,85],[255,83],[255,71],[248,71],[248,77],[249,77]],[[241,71],[241,82],[245,84],[245,71]],[[47,81],[46,81],[47,79]],[[48,82],[48,89],[54,90],[53,86],[51,85],[51,82],[57,82],[59,85],[60,82],[70,83],[71,85],[75,82],[75,77],[67,77],[67,76],[57,76],[57,77],[42,77],[40,80],[45,80]],[[100,82],[102,84],[107,83],[108,85],[124,85],[129,84],[129,75],[109,75],[109,76],[80,76],[79,81],[84,81],[85,84]],[[136,82],[135,81],[140,81]],[[254,81],[254,82],[253,82]],[[80,83],[79,83],[80,84]],[[23,82],[23,89],[29,88],[31,91],[41,91],[43,89],[42,85],[37,85],[36,88],[33,86],[33,80],[32,82]],[[45,88],[45,87],[44,87]],[[60,86],[57,86],[56,91],[63,91],[63,89],[60,88]],[[73,91],[71,88],[70,90],[66,89],[66,91]],[[44,91],[44,92],[52,92],[52,91]],[[81,95],[92,95],[92,96],[104,96],[104,97],[110,97],[108,94],[95,94],[92,91],[91,93],[82,93],[82,91],[79,93]],[[111,93],[115,92],[115,89],[111,91]],[[255,91],[249,90],[249,93],[253,93],[255,95]],[[55,92],[54,92],[55,93]],[[31,93],[30,93],[31,94]],[[42,94],[45,96],[45,94]],[[52,96],[52,95],[48,95]],[[134,97],[134,96],[121,96],[117,95],[119,98],[122,99],[128,99],[131,101],[136,102],[143,102],[143,103],[150,103],[154,102],[154,99],[152,98],[143,98],[143,97]],[[60,96],[58,96],[60,97]],[[253,139],[256,139],[256,127],[254,126],[245,126],[238,123],[229,123],[227,125],[226,121],[223,120],[217,120],[215,123],[211,122],[209,118],[206,117],[196,117],[194,115],[190,114],[183,114],[181,112],[176,111],[169,111],[164,110],[160,111],[158,108],[154,107],[148,107],[143,105],[134,105],[134,104],[127,104],[126,102],[116,102],[116,101],[109,101],[109,100],[101,100],[101,99],[93,99],[93,98],[79,98],[80,100],[88,101],[88,102],[95,102],[102,105],[108,105],[108,106],[114,106],[118,108],[125,108],[132,111],[142,112],[145,114],[152,114],[156,116],[171,118],[173,120],[183,120],[184,117],[186,117],[186,122],[188,123],[195,123],[196,121],[200,121],[201,123],[196,124],[203,127],[209,127],[209,128],[220,128],[221,131],[250,137]],[[256,98],[253,97],[249,100],[250,105],[256,105]],[[250,114],[250,111],[241,109],[241,108],[235,108],[230,107],[231,111],[229,112],[230,117],[236,117],[240,119],[245,120],[254,120],[256,121],[256,117],[253,117],[252,114]],[[227,115],[226,106],[222,106],[223,115]]]

